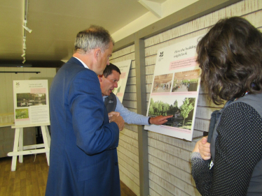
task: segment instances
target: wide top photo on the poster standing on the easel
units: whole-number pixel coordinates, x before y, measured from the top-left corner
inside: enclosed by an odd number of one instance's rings
[[[16,103],[17,107],[46,105],[46,93],[17,93]]]

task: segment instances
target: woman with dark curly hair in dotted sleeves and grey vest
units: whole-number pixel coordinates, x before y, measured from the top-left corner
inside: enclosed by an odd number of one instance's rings
[[[262,195],[262,34],[242,17],[220,20],[197,53],[210,98],[227,103],[208,136],[212,163],[200,141],[191,153],[195,185],[201,195]]]

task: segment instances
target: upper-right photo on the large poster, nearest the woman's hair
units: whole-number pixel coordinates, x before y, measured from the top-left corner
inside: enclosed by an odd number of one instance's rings
[[[172,92],[197,91],[200,69],[174,73]]]

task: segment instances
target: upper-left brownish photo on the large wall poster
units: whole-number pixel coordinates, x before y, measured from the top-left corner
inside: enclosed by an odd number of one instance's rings
[[[173,74],[156,75],[153,79],[152,93],[170,92]]]

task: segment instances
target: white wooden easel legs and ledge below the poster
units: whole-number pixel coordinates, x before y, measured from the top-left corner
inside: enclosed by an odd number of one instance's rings
[[[49,165],[49,151],[50,151],[50,134],[48,132],[48,126],[50,123],[41,123],[33,125],[21,125],[21,126],[12,126],[15,128],[15,140],[13,144],[13,152],[8,153],[8,156],[13,156],[11,171],[15,171],[16,162],[19,156],[19,163],[22,163],[22,156],[27,154],[36,154],[36,153],[46,153],[46,159]],[[40,126],[42,135],[43,135],[43,144],[34,144],[29,146],[23,145],[23,128]],[[39,149],[42,148],[42,149]]]

